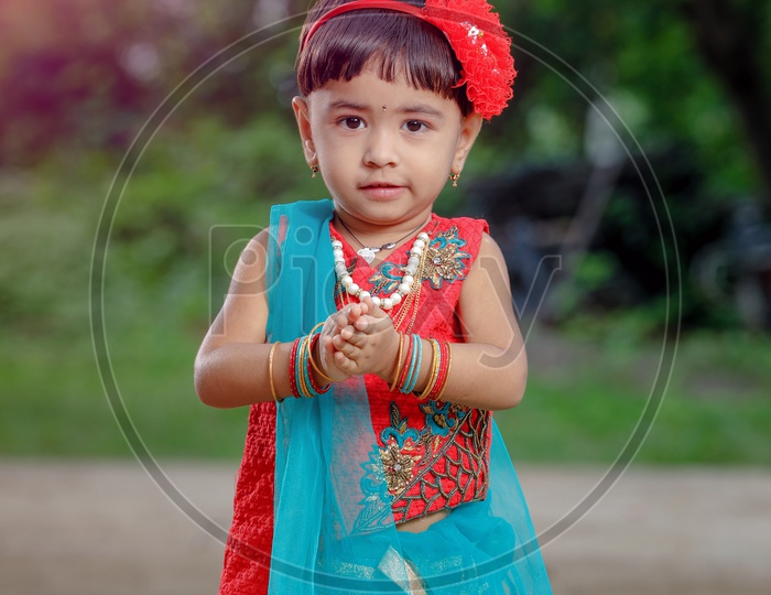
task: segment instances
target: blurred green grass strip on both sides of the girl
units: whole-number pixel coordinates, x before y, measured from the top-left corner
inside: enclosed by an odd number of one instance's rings
[[[192,363],[204,331],[138,317],[108,334],[119,390],[111,399],[122,403],[154,456],[241,454],[247,411],[207,408],[193,390]],[[771,464],[770,347],[768,337],[736,333],[683,339],[655,423],[636,461]],[[512,458],[615,461],[649,403],[660,346],[619,346],[550,331],[534,333],[530,349],[525,400],[496,413]],[[89,336],[4,343],[0,356],[0,453],[130,456]]]

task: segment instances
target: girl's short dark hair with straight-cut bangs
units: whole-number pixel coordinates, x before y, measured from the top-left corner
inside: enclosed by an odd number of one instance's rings
[[[300,37],[303,47],[313,23],[347,0],[319,0]],[[423,1],[405,3],[422,7]],[[350,80],[366,67],[389,83],[400,75],[416,89],[455,100],[464,116],[474,111],[466,86],[456,87],[460,64],[444,34],[416,17],[392,10],[362,9],[324,23],[297,56],[297,84],[308,96],[329,80]]]

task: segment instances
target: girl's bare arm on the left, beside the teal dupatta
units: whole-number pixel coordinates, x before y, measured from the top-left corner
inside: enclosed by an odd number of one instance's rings
[[[273,400],[268,371],[272,345],[265,343],[268,237],[267,230],[261,231],[243,250],[225,304],[196,356],[195,390],[208,405],[234,408]],[[292,393],[291,348],[291,343],[282,343],[273,353],[273,386],[279,398]],[[335,379],[347,377],[330,361],[323,369]],[[318,385],[324,385],[314,376]]]

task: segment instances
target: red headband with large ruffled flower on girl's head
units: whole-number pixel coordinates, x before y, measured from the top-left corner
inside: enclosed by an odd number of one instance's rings
[[[404,12],[442,31],[461,66],[457,86],[466,85],[474,111],[486,120],[503,111],[513,96],[511,86],[517,71],[511,56],[511,39],[487,0],[426,0],[422,9],[398,0],[354,0],[319,18],[305,35],[301,52],[328,20],[365,9]]]

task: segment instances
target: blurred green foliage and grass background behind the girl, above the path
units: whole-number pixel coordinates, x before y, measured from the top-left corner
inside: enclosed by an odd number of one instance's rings
[[[523,317],[528,394],[498,415],[513,458],[610,463],[658,413],[639,461],[768,465],[771,4],[498,3],[515,97],[437,209],[489,217],[482,188],[525,204],[537,193],[507,184],[597,169],[593,139],[616,132],[627,169],[650,156],[665,197],[636,203],[606,185],[586,249],[554,275],[536,323]],[[290,108],[306,8],[0,2],[0,455],[131,454],[97,367],[96,313],[124,428],[159,457],[240,456],[246,410],[200,404],[193,359],[270,205],[325,194]],[[597,134],[587,113],[602,98],[616,113]],[[660,219],[641,227],[651,213]],[[754,234],[749,264],[737,213]],[[631,253],[653,262],[642,278],[613,237],[636,238]],[[620,294],[631,298],[608,299]]]

